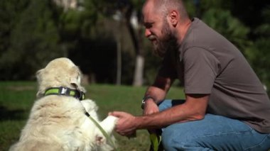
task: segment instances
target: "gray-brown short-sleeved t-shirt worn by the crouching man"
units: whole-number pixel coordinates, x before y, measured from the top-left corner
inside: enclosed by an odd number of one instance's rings
[[[259,78],[237,47],[198,18],[178,50],[166,52],[158,75],[180,79],[185,94],[210,94],[207,113],[270,133],[270,101]]]

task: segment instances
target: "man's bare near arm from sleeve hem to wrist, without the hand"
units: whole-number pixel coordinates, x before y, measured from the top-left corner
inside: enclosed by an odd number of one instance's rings
[[[136,117],[137,129],[163,128],[178,122],[197,121],[205,117],[209,94],[186,94],[184,104],[165,111]]]

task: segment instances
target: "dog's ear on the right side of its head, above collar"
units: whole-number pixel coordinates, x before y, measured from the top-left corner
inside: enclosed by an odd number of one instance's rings
[[[72,67],[70,75],[71,75],[70,84],[72,86],[75,86],[75,88],[77,90],[85,92],[85,88],[83,88],[81,86],[81,83],[80,83],[81,82],[81,76],[82,76],[82,73],[80,72],[80,69],[77,66]]]

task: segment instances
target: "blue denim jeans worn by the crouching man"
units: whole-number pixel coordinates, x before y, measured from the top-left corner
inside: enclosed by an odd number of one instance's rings
[[[183,104],[180,100],[165,100],[160,111]],[[175,123],[163,128],[165,150],[256,150],[270,149],[270,133],[258,133],[242,121],[207,113],[200,121]]]

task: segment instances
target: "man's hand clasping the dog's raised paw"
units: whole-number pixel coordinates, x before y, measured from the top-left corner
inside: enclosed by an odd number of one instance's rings
[[[113,111],[109,116],[116,116],[119,118],[114,130],[120,135],[130,137],[136,133],[136,117],[126,112]]]

